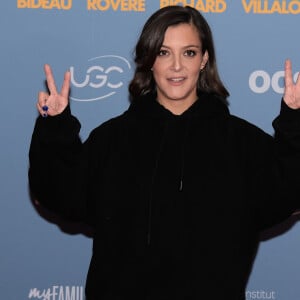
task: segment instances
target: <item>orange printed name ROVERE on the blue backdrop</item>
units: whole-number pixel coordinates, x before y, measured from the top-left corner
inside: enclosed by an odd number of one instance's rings
[[[87,0],[87,10],[145,11],[146,0]]]

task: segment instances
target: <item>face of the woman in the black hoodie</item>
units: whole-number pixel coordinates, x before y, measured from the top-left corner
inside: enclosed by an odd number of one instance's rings
[[[190,24],[170,26],[152,67],[158,101],[166,108],[193,104],[200,71],[208,60],[202,55],[197,29]]]

